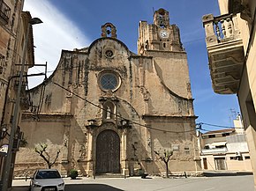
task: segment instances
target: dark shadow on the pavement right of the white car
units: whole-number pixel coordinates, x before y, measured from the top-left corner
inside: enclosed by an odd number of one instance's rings
[[[124,191],[122,189],[118,189],[116,187],[110,187],[109,185],[105,184],[69,184],[65,186],[66,191],[72,190],[90,190],[90,191],[101,191],[101,190],[108,190],[108,191]]]

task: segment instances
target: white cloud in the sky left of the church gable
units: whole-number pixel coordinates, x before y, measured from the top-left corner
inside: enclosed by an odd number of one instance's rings
[[[33,26],[35,64],[48,62],[48,70],[55,70],[62,49],[72,50],[88,46],[87,37],[49,1],[26,0],[23,11],[30,11],[32,18],[41,18],[43,22]],[[29,73],[39,71],[44,71],[44,68],[34,67]],[[42,78],[29,77],[29,87],[41,83]]]

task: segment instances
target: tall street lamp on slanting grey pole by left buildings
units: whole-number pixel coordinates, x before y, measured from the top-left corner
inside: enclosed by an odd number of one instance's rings
[[[26,51],[27,51],[27,41],[29,37],[29,30],[30,27],[36,24],[42,23],[40,18],[31,18],[27,24],[27,31],[26,31],[26,41],[23,46],[22,51],[22,62],[21,62],[21,70],[19,73],[19,86],[18,86],[18,92],[17,92],[17,98],[15,101],[15,107],[14,107],[14,114],[11,121],[11,135],[9,138],[9,145],[8,145],[8,151],[7,156],[4,160],[4,174],[3,174],[3,187],[2,191],[8,190],[8,184],[9,184],[9,178],[10,178],[10,171],[11,171],[11,158],[12,158],[12,149],[13,149],[13,143],[14,143],[14,137],[15,133],[17,131],[18,126],[18,116],[19,116],[19,102],[20,102],[20,92],[21,92],[21,86],[22,86],[22,78],[23,78],[23,72],[25,69],[25,61],[26,61]]]

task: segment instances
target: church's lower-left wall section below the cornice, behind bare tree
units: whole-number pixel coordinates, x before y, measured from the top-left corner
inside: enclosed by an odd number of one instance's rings
[[[72,149],[68,148],[70,143],[67,143],[69,136],[67,136],[67,131],[71,129],[71,120],[69,116],[62,118],[59,115],[53,117],[42,116],[40,122],[38,120],[31,119],[31,116],[24,117],[23,125],[29,127],[24,129],[24,138],[27,141],[26,147],[19,148],[19,154],[16,158],[15,164],[15,174],[14,176],[27,176],[34,173],[34,169],[37,168],[47,168],[45,161],[42,158],[39,158],[38,153],[34,150],[35,148],[40,148],[41,143],[46,143],[48,145],[48,151],[50,162],[56,157],[56,151],[60,150],[60,156],[58,157],[57,163],[66,161],[67,150]],[[81,135],[78,129],[73,129],[77,135]],[[77,142],[77,139],[73,140]],[[77,149],[79,151],[79,149]],[[26,158],[26,160],[24,159]],[[73,158],[70,158],[73,162]],[[57,165],[54,167],[58,168],[61,171],[61,168]]]

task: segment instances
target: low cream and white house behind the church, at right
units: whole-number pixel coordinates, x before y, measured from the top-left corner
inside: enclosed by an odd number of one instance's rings
[[[237,115],[234,125],[233,129],[220,129],[200,134],[200,158],[203,170],[252,172],[240,115]]]

